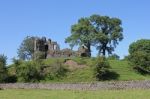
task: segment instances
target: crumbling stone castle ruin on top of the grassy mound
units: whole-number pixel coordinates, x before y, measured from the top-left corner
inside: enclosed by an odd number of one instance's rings
[[[46,37],[35,38],[34,40],[34,58],[57,58],[57,57],[87,57],[89,52],[86,47],[81,46],[78,51],[73,51],[71,49],[60,49],[57,42],[51,39],[46,39]]]

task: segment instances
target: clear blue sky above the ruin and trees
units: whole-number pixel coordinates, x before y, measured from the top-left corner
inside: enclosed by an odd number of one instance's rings
[[[0,54],[11,58],[26,36],[46,36],[61,48],[70,26],[92,14],[122,20],[124,40],[115,53],[128,55],[128,46],[138,39],[150,39],[150,0],[0,0]],[[96,52],[93,50],[93,55]]]

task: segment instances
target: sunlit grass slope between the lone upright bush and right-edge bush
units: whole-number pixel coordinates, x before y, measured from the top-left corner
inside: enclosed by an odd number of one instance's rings
[[[133,70],[128,61],[110,60],[111,70],[118,73],[120,77],[118,80],[147,80],[150,79],[148,75],[141,75]]]

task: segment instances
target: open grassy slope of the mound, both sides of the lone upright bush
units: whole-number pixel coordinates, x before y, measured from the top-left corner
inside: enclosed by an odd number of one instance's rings
[[[64,63],[65,60],[73,60],[78,64],[78,67],[71,66],[71,69],[67,72],[64,77],[55,78],[53,80],[42,80],[41,82],[96,82],[94,77],[94,60],[95,58],[51,58],[44,60],[44,64],[55,64],[57,61]],[[112,76],[110,80],[147,80],[150,79],[149,75],[141,75],[134,71],[132,67],[128,64],[128,61],[123,60],[109,60]],[[82,68],[80,68],[80,66]],[[69,67],[68,67],[69,68]],[[9,69],[11,70],[13,67]]]

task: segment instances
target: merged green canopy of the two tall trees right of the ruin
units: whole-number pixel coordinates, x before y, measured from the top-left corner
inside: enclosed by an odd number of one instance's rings
[[[84,45],[91,52],[90,47],[95,46],[99,55],[112,54],[114,48],[123,39],[121,20],[108,16],[92,15],[79,19],[71,27],[71,36],[66,38],[66,43],[71,47]]]

